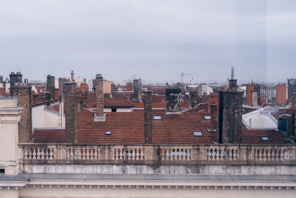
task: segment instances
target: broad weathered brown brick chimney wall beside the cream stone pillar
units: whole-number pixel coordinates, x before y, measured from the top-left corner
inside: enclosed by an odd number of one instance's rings
[[[18,124],[19,142],[30,142],[32,138],[31,87],[25,83],[15,83],[13,97],[17,97],[17,107],[23,107]]]

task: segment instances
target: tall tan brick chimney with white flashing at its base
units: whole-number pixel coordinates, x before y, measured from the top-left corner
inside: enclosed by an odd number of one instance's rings
[[[96,119],[104,117],[104,91],[103,77],[101,74],[96,75]]]

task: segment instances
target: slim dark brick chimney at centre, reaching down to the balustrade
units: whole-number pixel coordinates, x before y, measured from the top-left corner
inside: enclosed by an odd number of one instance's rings
[[[152,143],[152,91],[144,91],[144,143]]]

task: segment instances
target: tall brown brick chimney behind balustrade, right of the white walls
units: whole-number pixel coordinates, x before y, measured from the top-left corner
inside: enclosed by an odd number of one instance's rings
[[[77,143],[77,93],[76,83],[64,83],[65,95],[65,142]]]

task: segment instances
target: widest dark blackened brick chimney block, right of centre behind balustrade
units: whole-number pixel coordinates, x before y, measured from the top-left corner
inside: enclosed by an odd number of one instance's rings
[[[242,95],[240,91],[219,91],[219,143],[242,142]]]

